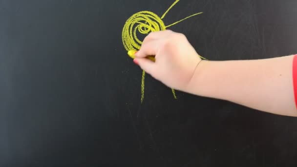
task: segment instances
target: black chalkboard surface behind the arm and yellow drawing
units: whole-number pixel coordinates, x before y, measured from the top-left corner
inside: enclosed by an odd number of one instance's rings
[[[297,119],[176,92],[122,43],[139,11],[175,0],[0,0],[0,167],[296,167]],[[209,60],[297,53],[296,0],[180,0]],[[234,69],[236,70],[236,69]],[[224,87],[222,87],[223,89]]]

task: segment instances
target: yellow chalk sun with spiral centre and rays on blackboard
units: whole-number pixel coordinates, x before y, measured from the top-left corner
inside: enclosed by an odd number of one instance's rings
[[[178,2],[179,0],[175,0],[171,6],[166,10],[166,12],[160,18],[158,15],[154,14],[150,11],[141,11],[138,13],[133,14],[125,23],[122,31],[122,41],[125,49],[128,51],[139,50],[142,44],[142,41],[137,38],[137,34],[148,34],[149,32],[154,31],[164,31],[166,28],[175,25],[181,21],[189,19],[193,16],[202,14],[195,13],[191,16],[188,16],[180,21],[176,21],[172,24],[165,25],[163,20],[165,16],[168,14],[170,9]],[[144,93],[145,93],[145,71],[142,72],[142,79],[141,79],[141,103],[144,100]],[[175,95],[174,89],[172,90],[173,97],[177,99]]]

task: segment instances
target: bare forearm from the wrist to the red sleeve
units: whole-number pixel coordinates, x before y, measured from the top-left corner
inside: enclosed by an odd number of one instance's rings
[[[249,61],[202,61],[187,92],[258,110],[297,116],[293,56]]]

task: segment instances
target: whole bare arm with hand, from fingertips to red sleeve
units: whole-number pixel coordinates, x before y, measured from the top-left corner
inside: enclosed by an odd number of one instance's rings
[[[155,55],[155,62],[148,60]],[[201,60],[187,38],[173,31],[150,33],[134,63],[169,87],[223,99],[261,111],[297,116],[293,58],[247,61]]]

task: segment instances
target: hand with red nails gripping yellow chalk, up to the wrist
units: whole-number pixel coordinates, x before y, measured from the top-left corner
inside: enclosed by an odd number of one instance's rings
[[[145,58],[155,55],[155,63]],[[135,53],[134,63],[167,86],[185,90],[201,61],[187,38],[170,30],[152,32]]]

